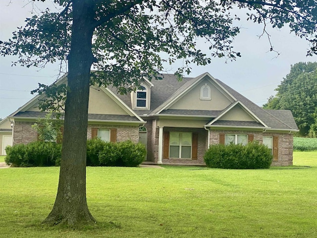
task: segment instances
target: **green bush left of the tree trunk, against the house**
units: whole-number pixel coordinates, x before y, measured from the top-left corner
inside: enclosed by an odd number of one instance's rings
[[[17,144],[5,151],[5,163],[13,167],[58,166],[61,158],[61,145],[52,142]]]

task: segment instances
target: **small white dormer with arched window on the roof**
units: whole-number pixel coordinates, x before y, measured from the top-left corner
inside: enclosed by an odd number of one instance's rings
[[[151,88],[154,86],[147,78],[139,81],[140,86],[131,92],[131,105],[134,110],[150,110]]]

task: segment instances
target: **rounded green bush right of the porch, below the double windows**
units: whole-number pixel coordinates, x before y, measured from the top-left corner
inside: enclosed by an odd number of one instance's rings
[[[210,168],[220,169],[268,169],[272,163],[270,150],[257,141],[230,145],[211,145],[204,155]]]

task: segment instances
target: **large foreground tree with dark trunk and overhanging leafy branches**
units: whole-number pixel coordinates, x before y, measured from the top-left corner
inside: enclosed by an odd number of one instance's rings
[[[317,54],[317,0],[53,1],[57,11],[46,9],[26,19],[12,39],[0,41],[1,56],[19,57],[14,64],[43,67],[56,60],[67,62],[60,176],[53,210],[45,220],[51,224],[95,222],[86,202],[90,84],[113,84],[126,93],[131,88],[127,86],[137,87],[142,76],[159,79],[164,63],[183,60],[175,70],[181,79],[191,71],[191,63],[206,65],[213,57],[235,60],[241,54],[232,43],[239,33],[236,21],[242,17],[236,8],[246,9],[247,19],[262,24],[268,37],[266,24],[288,25],[310,42],[307,54]],[[198,39],[209,51],[201,49]],[[272,46],[270,50],[274,51]],[[92,65],[97,71],[91,74]],[[48,89],[40,85],[38,92]]]

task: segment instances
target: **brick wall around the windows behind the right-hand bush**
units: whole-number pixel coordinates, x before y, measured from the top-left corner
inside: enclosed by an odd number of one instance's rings
[[[211,130],[210,144],[219,143],[219,134],[254,134],[254,140],[263,143],[263,136],[278,136],[278,159],[272,162],[272,166],[293,165],[293,134],[262,132],[249,130]]]

